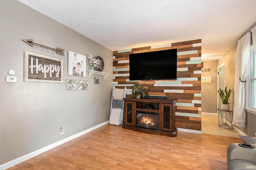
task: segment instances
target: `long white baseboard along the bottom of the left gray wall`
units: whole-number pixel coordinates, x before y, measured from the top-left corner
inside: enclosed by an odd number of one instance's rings
[[[108,121],[106,121],[106,122],[104,122],[104,123],[101,123],[101,124],[99,124],[99,125],[96,125],[95,127],[88,128],[88,129],[86,129],[86,130],[84,130],[84,131],[82,131],[82,132],[79,132],[79,133],[77,133],[77,134],[74,134],[74,135],[72,135],[72,136],[70,136],[70,137],[68,137],[68,138],[62,139],[62,140],[60,140],[60,141],[58,141],[58,142],[55,142],[55,143],[53,143],[53,144],[50,144],[50,145],[48,145],[48,146],[45,146],[44,148],[38,149],[38,150],[36,150],[36,151],[34,151],[34,152],[31,152],[31,153],[29,153],[29,154],[26,154],[26,155],[24,155],[24,156],[21,156],[21,157],[19,157],[19,158],[16,158],[16,159],[14,159],[14,160],[11,160],[10,162],[6,162],[5,164],[0,165],[0,170],[5,170],[5,169],[7,169],[7,168],[10,168],[10,167],[12,167],[12,166],[15,166],[15,165],[17,165],[17,164],[19,164],[19,163],[21,163],[21,162],[24,162],[24,161],[26,161],[26,160],[28,160],[28,159],[30,159],[30,158],[33,158],[34,156],[37,156],[37,155],[39,155],[39,154],[42,154],[42,153],[44,153],[44,152],[46,152],[46,151],[48,151],[48,150],[50,150],[50,149],[52,149],[52,148],[55,148],[56,146],[59,146],[59,145],[61,145],[61,144],[64,144],[64,143],[66,143],[66,142],[68,142],[68,141],[70,141],[70,140],[72,140],[72,139],[74,139],[74,138],[77,138],[77,137],[79,137],[79,136],[81,136],[81,135],[83,135],[83,134],[86,134],[86,133],[88,133],[88,132],[90,132],[90,131],[92,131],[92,130],[95,130],[96,128],[102,127],[102,126],[104,126],[104,125],[106,125],[106,124],[108,124]]]

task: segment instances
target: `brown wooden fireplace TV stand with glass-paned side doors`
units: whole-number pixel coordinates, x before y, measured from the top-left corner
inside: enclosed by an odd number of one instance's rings
[[[149,134],[157,134],[169,137],[177,136],[175,127],[175,103],[173,99],[133,99],[124,98],[124,124],[123,128],[136,130]],[[150,105],[150,107],[146,107]],[[152,106],[152,107],[151,107]],[[142,127],[139,115],[154,115],[159,119],[156,121],[158,127]]]

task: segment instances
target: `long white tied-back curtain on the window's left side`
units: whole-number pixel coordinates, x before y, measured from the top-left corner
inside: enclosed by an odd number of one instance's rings
[[[233,125],[238,127],[245,127],[246,123],[246,111],[244,109],[246,96],[245,80],[250,59],[250,43],[250,32],[237,42]]]

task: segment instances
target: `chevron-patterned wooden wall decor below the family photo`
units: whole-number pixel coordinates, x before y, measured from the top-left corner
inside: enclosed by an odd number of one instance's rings
[[[87,90],[88,81],[84,80],[66,80],[66,90]]]

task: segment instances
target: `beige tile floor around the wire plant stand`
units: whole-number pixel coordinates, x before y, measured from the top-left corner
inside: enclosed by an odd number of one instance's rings
[[[234,129],[224,129],[218,127],[218,115],[206,114],[202,114],[202,133],[236,138],[239,138],[238,135],[240,135],[240,133]]]

